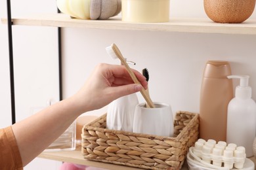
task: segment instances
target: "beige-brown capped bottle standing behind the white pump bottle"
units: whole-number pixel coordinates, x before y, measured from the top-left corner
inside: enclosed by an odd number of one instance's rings
[[[200,92],[200,138],[226,141],[228,103],[234,97],[228,61],[207,61]]]

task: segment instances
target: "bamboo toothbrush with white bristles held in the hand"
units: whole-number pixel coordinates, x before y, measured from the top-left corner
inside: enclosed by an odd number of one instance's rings
[[[110,55],[113,59],[119,58],[121,63],[123,63],[123,65],[125,66],[125,68],[127,69],[129,75],[131,76],[131,78],[133,79],[133,81],[136,84],[140,84],[139,80],[137,79],[137,77],[135,76],[135,74],[133,73],[133,71],[131,71],[131,68],[129,67],[129,65],[127,64],[127,62],[125,61],[125,58],[123,58],[123,55],[121,54],[120,50],[117,48],[116,44],[111,44],[111,46],[106,48],[106,52],[108,53],[108,55]],[[142,96],[144,97],[144,99],[146,100],[146,103],[148,103],[148,105],[150,106],[150,108],[154,108],[155,105],[153,103],[153,101],[150,99],[148,93],[146,92],[146,90],[142,87],[142,90],[140,90],[140,93],[142,94]]]

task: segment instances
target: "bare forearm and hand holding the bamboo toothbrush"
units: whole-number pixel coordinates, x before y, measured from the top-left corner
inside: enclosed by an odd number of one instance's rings
[[[134,73],[146,88],[146,78],[138,71],[134,70]],[[121,65],[98,65],[75,95],[12,126],[23,166],[53,143],[77,116],[100,109],[123,95],[139,92],[142,86],[134,84]]]

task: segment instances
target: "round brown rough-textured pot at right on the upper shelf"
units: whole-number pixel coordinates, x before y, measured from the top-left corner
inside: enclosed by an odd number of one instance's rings
[[[256,0],[203,0],[205,13],[214,22],[241,23],[253,13]]]

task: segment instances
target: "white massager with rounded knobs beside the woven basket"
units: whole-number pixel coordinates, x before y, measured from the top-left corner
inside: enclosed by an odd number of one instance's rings
[[[242,169],[245,163],[245,148],[236,144],[209,139],[198,139],[189,154],[194,158],[194,163],[213,169]]]

